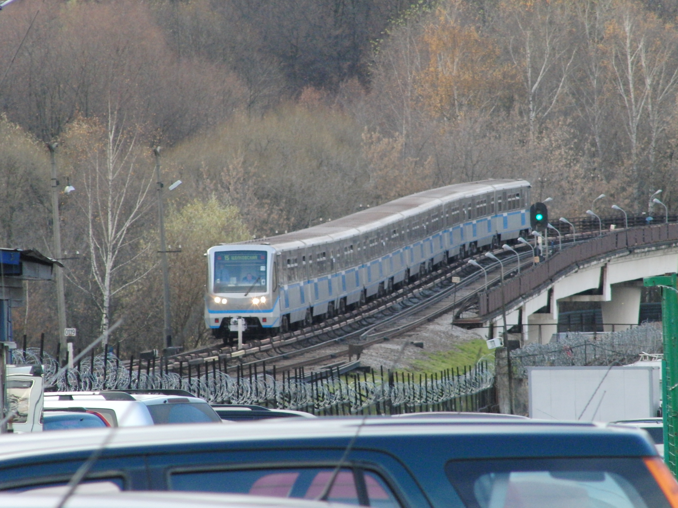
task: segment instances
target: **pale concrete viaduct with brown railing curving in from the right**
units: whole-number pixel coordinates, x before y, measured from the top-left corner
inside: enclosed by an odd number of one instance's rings
[[[559,303],[599,301],[603,323],[628,328],[638,324],[643,277],[677,270],[678,224],[603,232],[479,293],[476,322],[494,325],[496,336],[505,315],[523,344],[547,343],[557,333]]]

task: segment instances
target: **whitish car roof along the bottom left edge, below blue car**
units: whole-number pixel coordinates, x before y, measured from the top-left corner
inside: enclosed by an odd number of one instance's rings
[[[4,508],[53,508],[58,505],[61,498],[61,494],[34,494],[30,491],[19,494],[0,494],[0,506]],[[348,508],[348,505],[340,503],[306,499],[178,491],[74,494],[66,503],[66,508],[92,508],[92,506],[97,508]]]

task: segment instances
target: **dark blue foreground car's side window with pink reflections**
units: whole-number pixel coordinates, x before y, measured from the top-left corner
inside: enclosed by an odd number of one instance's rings
[[[332,468],[245,469],[172,473],[172,490],[228,492],[258,496],[317,499],[332,478]],[[399,508],[395,495],[372,471],[342,469],[328,501],[378,508]]]

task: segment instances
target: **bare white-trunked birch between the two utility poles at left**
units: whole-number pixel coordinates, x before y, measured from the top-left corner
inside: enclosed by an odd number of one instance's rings
[[[65,147],[77,171],[74,184],[87,252],[87,273],[71,273],[70,278],[92,297],[103,333],[110,326],[114,298],[155,268],[139,271],[135,263],[148,249],[142,247],[141,219],[153,205],[153,164],[140,154],[138,129],[126,129],[117,120],[111,112],[105,125],[76,121]]]

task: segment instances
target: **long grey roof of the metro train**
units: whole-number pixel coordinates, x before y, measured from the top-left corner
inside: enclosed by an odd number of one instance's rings
[[[487,179],[468,184],[454,184],[410,194],[389,201],[383,205],[361,210],[334,221],[327,221],[311,228],[290,233],[246,240],[233,245],[271,245],[279,251],[291,251],[303,247],[312,247],[327,242],[352,238],[357,234],[370,232],[393,222],[417,215],[428,209],[449,203],[460,198],[470,198],[478,194],[507,190],[515,187],[530,186],[523,179]]]

